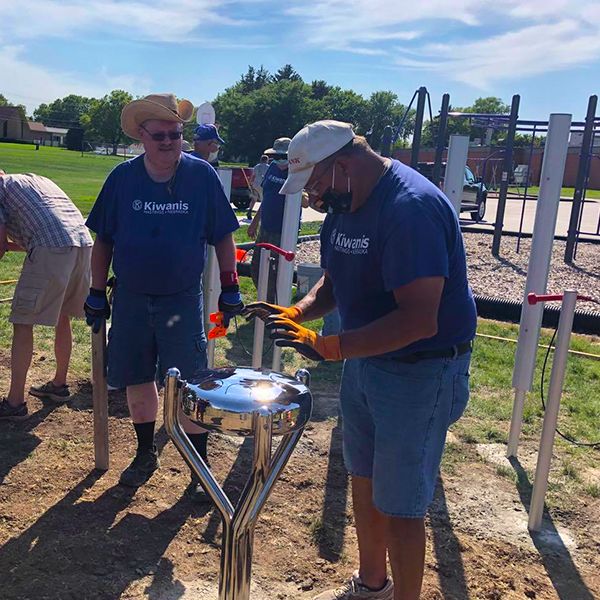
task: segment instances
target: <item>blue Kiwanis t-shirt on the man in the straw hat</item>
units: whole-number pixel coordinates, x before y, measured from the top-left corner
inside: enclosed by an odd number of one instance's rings
[[[109,174],[87,226],[114,244],[120,285],[165,295],[199,287],[207,242],[216,244],[238,222],[208,163],[182,154],[169,186],[150,179],[142,155]]]

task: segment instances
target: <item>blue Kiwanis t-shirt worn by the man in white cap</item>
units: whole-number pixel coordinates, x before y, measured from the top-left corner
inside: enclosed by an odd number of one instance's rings
[[[394,310],[395,288],[421,277],[446,279],[437,334],[386,356],[442,350],[475,336],[477,313],[456,213],[437,187],[398,161],[358,211],[327,215],[321,266],[333,282],[345,330]]]

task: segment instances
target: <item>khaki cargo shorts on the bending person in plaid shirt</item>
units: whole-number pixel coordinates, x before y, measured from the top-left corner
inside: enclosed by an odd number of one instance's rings
[[[92,247],[33,248],[25,258],[9,321],[55,326],[58,317],[84,317]]]

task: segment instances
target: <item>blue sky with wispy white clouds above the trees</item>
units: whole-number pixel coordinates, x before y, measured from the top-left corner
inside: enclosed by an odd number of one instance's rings
[[[31,112],[69,93],[211,100],[248,65],[291,63],[437,112],[479,96],[582,120],[600,88],[599,0],[0,0],[0,93]]]

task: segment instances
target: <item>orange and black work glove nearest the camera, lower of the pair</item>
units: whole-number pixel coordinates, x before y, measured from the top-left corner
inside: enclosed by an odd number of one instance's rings
[[[312,360],[342,360],[339,335],[323,337],[285,317],[271,317],[265,327],[278,346],[294,348]]]

